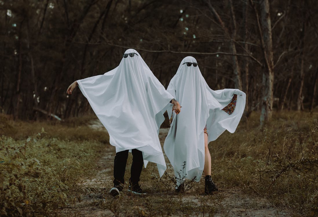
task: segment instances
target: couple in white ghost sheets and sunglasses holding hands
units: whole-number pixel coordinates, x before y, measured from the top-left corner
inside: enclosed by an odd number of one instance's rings
[[[143,165],[156,163],[160,177],[167,169],[158,137],[165,111],[171,118],[163,148],[175,171],[176,192],[184,191],[185,179],[199,181],[202,172],[204,193],[218,191],[211,180],[208,143],[225,130],[235,132],[245,108],[244,92],[211,90],[190,56],[181,61],[165,90],[134,49],[125,51],[113,70],[74,81],[67,93],[76,86],[107,129],[109,143],[116,147],[111,195],[123,190],[129,151],[133,161],[128,191],[132,193],[146,194],[138,184]]]

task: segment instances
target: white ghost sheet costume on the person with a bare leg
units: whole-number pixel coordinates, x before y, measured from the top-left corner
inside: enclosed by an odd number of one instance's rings
[[[182,112],[173,115],[164,152],[174,168],[177,185],[184,179],[199,181],[204,169],[204,127],[207,126],[208,142],[216,140],[225,130],[235,132],[245,108],[246,95],[238,89],[211,90],[204,80],[199,65],[193,57],[184,58],[167,91],[179,101]],[[232,114],[222,109],[237,94]],[[169,117],[172,105],[167,106]],[[182,169],[186,161],[185,168]]]

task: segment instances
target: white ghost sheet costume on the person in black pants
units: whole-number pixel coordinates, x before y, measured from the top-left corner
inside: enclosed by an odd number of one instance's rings
[[[140,54],[122,58],[120,64],[103,75],[77,80],[93,111],[109,133],[116,153],[142,151],[144,166],[157,164],[159,175],[167,166],[158,138],[164,120],[161,113],[173,97],[154,76]]]

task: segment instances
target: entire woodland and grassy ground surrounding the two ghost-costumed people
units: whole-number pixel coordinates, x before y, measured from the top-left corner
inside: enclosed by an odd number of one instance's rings
[[[0,216],[318,216],[317,10],[316,0],[0,0]],[[236,132],[209,144],[218,193],[204,195],[201,177],[175,194],[166,158],[161,178],[143,169],[147,197],[128,184],[109,194],[115,149],[79,89],[66,89],[128,48],[165,87],[190,55],[212,89],[246,93]]]

